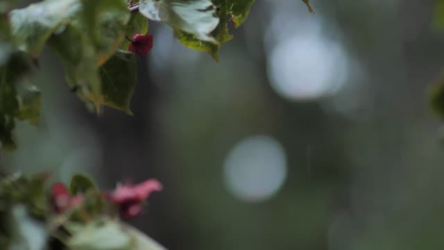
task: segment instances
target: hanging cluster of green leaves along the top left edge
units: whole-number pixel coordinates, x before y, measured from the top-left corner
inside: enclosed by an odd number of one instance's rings
[[[151,49],[131,40],[148,34],[148,19],[166,23],[186,47],[219,60],[219,48],[233,38],[228,22],[239,27],[254,0],[44,0],[17,8],[18,3],[0,4],[0,143],[6,149],[15,148],[16,119],[39,121],[41,95],[32,75],[45,46],[60,59],[79,99],[97,113],[110,106],[131,114],[137,54],[128,50],[144,55]]]

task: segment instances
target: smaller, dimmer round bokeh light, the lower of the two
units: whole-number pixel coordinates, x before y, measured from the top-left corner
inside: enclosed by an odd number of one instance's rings
[[[273,197],[287,177],[284,148],[275,139],[256,135],[241,140],[225,159],[225,184],[243,201],[264,201]]]

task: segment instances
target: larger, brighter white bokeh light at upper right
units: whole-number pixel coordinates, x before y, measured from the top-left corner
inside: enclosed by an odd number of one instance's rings
[[[294,101],[334,94],[348,76],[348,56],[340,44],[320,35],[294,35],[275,44],[268,58],[273,90]]]

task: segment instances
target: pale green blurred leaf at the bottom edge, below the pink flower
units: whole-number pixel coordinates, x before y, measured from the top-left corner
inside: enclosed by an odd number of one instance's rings
[[[126,250],[131,249],[131,238],[117,221],[101,219],[86,226],[69,227],[73,236],[67,241],[71,250]],[[148,250],[148,249],[147,249]]]

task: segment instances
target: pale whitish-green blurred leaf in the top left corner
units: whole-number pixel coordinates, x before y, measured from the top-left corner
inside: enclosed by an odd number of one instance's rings
[[[46,0],[12,10],[9,16],[17,47],[37,56],[53,31],[69,22],[79,9],[78,0]]]

